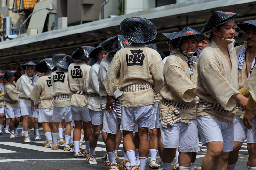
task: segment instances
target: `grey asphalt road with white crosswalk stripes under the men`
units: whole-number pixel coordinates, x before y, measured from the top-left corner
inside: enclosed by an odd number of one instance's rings
[[[21,125],[19,126],[18,133],[20,135]],[[41,140],[34,140],[33,138],[33,129],[31,130],[31,143],[25,144],[24,137],[17,137],[14,139],[9,138],[10,134],[0,135],[0,169],[31,169],[31,170],[45,170],[45,169],[108,169],[107,166],[104,166],[104,161],[100,157],[104,155],[102,150],[105,150],[105,144],[100,135],[99,141],[97,143],[95,153],[97,156],[97,165],[90,165],[86,157],[74,158],[74,154],[69,151],[63,151],[64,145],[59,146],[59,150],[52,150],[51,148],[44,148],[44,140],[46,139],[44,135],[43,128],[39,129],[39,134],[41,135]],[[64,135],[64,134],[63,134]],[[119,147],[119,159],[116,160],[118,164],[121,164],[123,161],[123,141]],[[201,143],[200,143],[201,144]],[[82,152],[85,149],[85,143],[83,143]],[[196,164],[198,170],[201,169],[201,163],[203,157],[206,153],[206,147],[200,145],[202,151],[197,152]],[[157,154],[157,160],[160,162],[159,155]],[[248,151],[246,143],[243,144],[239,152],[239,160],[236,164],[237,170],[246,170],[247,169],[247,159]],[[150,162],[150,154],[148,158],[147,165]],[[172,167],[174,166],[175,159],[172,162]],[[171,167],[171,169],[172,169]],[[119,168],[120,170],[122,168]],[[145,168],[149,170],[148,166]]]

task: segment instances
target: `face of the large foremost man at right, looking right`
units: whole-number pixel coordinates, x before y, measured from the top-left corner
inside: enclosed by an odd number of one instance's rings
[[[235,24],[234,21],[228,21],[226,22],[222,27],[220,27],[220,31],[217,32],[217,34],[222,38],[225,39],[232,39],[235,36],[236,30],[235,30]],[[231,43],[231,40],[224,40],[227,43]]]

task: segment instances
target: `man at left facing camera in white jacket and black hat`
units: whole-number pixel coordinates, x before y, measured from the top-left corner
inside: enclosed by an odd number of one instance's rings
[[[32,61],[22,65],[26,69],[26,74],[20,77],[19,84],[19,108],[22,115],[22,127],[25,135],[25,143],[30,143],[30,130],[32,129],[35,117],[36,117],[36,108],[34,101],[28,97],[32,91],[38,77],[34,74],[36,64]]]

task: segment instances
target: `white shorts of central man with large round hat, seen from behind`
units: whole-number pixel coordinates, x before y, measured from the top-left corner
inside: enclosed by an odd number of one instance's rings
[[[154,127],[154,105],[139,107],[122,107],[121,130],[133,131],[138,124],[139,128]]]

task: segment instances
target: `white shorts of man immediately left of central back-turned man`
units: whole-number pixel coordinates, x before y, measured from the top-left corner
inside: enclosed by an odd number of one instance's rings
[[[102,109],[103,112],[103,125],[102,131],[106,133],[116,134],[118,130],[118,124],[121,124],[121,119],[117,119],[116,108],[108,113],[106,109]]]

